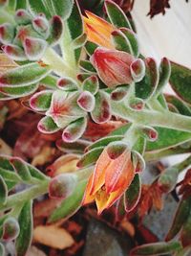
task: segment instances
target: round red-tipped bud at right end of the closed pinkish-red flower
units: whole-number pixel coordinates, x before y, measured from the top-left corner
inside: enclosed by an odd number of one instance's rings
[[[130,71],[134,81],[136,82],[141,81],[145,76],[144,61],[141,58],[138,58],[137,60],[135,60],[130,66]]]

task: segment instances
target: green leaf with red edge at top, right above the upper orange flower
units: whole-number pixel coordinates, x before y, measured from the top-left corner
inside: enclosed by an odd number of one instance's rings
[[[108,17],[113,25],[117,28],[128,28],[132,29],[129,20],[125,13],[117,6],[117,4],[111,0],[105,1],[105,9]]]

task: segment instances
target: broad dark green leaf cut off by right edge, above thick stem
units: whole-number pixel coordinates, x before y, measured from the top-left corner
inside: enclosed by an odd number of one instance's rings
[[[173,90],[186,103],[191,104],[191,70],[171,61],[170,84]]]

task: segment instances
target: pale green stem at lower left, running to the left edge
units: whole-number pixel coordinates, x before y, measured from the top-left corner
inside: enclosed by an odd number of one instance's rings
[[[38,198],[48,192],[49,181],[43,181],[38,185],[32,186],[31,188],[22,192],[16,193],[7,199],[5,204],[0,204],[0,211],[11,209],[15,204],[22,204],[24,201],[28,201],[33,198]]]

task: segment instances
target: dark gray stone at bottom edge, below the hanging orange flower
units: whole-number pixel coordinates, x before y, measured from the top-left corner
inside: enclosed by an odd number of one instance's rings
[[[83,256],[128,256],[132,247],[130,238],[106,224],[93,220],[90,222]]]

